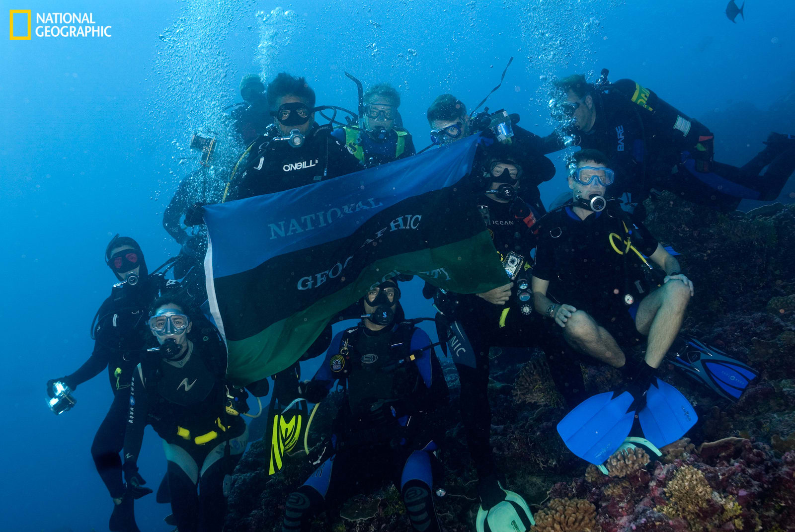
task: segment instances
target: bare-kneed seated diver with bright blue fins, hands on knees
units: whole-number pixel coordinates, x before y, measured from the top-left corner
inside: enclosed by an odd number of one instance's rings
[[[577,406],[560,421],[558,432],[572,452],[596,465],[641,440],[658,456],[656,449],[682,437],[697,420],[687,399],[656,378],[693,285],[637,216],[604,199],[615,181],[607,157],[580,150],[574,161],[568,177],[572,202],[541,219],[534,306],[553,320],[550,336],[562,336],[576,351],[620,368],[627,380],[625,390]],[[652,270],[659,287],[646,281]],[[645,359],[627,359],[623,350],[644,336]],[[629,436],[636,413],[646,439]]]

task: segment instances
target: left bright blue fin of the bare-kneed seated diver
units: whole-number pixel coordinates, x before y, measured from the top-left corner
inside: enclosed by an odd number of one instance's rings
[[[632,394],[613,395],[608,391],[586,399],[557,424],[566,447],[594,465],[603,464],[621,447],[634,422],[634,410],[626,411],[634,402]]]

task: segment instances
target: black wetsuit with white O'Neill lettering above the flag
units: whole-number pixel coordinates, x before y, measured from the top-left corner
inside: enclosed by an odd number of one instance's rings
[[[254,141],[246,171],[239,179],[233,177],[227,201],[281,192],[361,169],[356,157],[326,127],[314,124],[299,148],[272,138],[269,133]]]

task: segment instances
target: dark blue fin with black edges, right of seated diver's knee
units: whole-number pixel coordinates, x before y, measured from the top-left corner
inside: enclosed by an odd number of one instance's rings
[[[677,340],[676,357],[670,363],[723,398],[737,401],[759,376],[754,368],[693,336],[683,334]]]

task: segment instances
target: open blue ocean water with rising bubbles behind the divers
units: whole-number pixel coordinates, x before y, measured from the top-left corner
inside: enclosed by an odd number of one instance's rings
[[[344,71],[365,85],[389,81],[421,148],[436,95],[452,92],[473,107],[510,56],[487,105],[518,113],[538,134],[552,130],[551,76],[610,68],[611,79],[637,80],[702,119],[717,135],[716,158],[739,165],[770,130],[795,132],[795,116],[770,112],[795,99],[795,6],[748,2],[747,18],[732,24],[725,3],[3,2],[32,10],[33,25],[37,13],[69,11],[112,26],[112,37],[0,45],[3,529],[107,530],[111,500],[89,452],[111,402],[104,374],[81,385],[76,408],[59,417],[45,406],[45,382],[91,352],[91,317],[114,283],[103,263],[111,236],[138,239],[150,267],[179,249],[161,220],[180,177],[196,167],[180,158],[196,157],[185,148],[193,130],[217,127],[220,110],[239,101],[243,74],[306,76],[318,103],[348,108],[355,87]],[[553,157],[559,175],[542,186],[547,201],[565,186],[561,156]],[[409,316],[431,313],[416,291],[404,304]],[[139,464],[156,487],[165,460],[153,433]],[[136,513],[142,530],[169,530],[169,511],[153,497]]]

